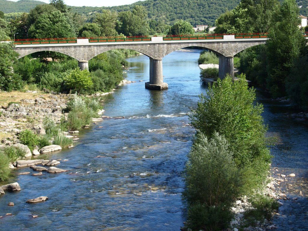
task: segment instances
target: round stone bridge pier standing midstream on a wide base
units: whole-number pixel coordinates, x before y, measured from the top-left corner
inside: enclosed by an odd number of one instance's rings
[[[168,89],[168,84],[164,83],[163,60],[161,58],[150,58],[150,81],[145,83],[145,88],[150,90]]]

